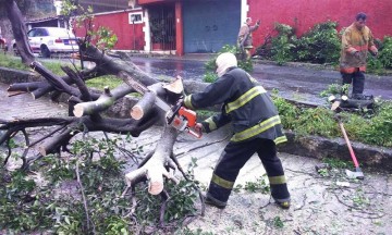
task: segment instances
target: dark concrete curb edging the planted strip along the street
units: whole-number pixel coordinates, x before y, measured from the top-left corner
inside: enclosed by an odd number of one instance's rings
[[[12,84],[39,79],[39,76],[30,72],[0,67],[0,83]],[[65,96],[61,99],[63,102],[66,102],[66,100]],[[125,97],[125,99],[118,100],[106,114],[112,118],[126,119],[128,111],[135,102],[136,100],[132,97]],[[336,158],[351,161],[350,152],[343,138],[330,139],[319,136],[297,136],[292,132],[286,132],[286,136],[289,141],[278,147],[278,150],[281,152],[316,159]],[[362,165],[392,171],[392,149],[356,141],[352,141],[352,146]]]

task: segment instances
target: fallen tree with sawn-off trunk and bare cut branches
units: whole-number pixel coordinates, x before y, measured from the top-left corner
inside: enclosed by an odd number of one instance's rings
[[[172,84],[174,89],[171,88],[172,86],[162,86],[162,83],[140,71],[132,62],[123,61],[120,58],[109,57],[105,50],[95,47],[91,44],[91,34],[86,34],[86,37],[78,41],[79,52],[75,57],[78,57],[84,61],[95,62],[97,65],[93,69],[82,71],[62,66],[62,70],[66,74],[65,76],[60,77],[53,74],[39,62],[35,61],[27,44],[26,34],[24,33],[25,27],[22,13],[15,1],[7,0],[5,3],[8,17],[12,24],[13,34],[16,39],[22,61],[46,79],[42,82],[12,84],[8,88],[8,91],[12,95],[29,92],[34,99],[50,95],[53,100],[61,94],[70,95],[69,106],[73,108],[71,110],[74,114],[73,116],[41,118],[34,120],[0,120],[0,129],[5,131],[0,136],[0,145],[3,143],[9,144],[10,139],[17,132],[24,134],[28,147],[32,145],[39,145],[40,153],[34,158],[26,158],[28,148],[25,150],[22,158],[24,169],[28,169],[28,165],[33,161],[49,153],[61,153],[61,151],[66,151],[71,139],[78,133],[86,131],[118,134],[130,133],[132,136],[137,137],[142,132],[164,120],[164,112],[154,104],[157,97],[160,97],[168,103],[175,104],[181,96],[183,90],[177,90],[179,86],[182,87],[182,84],[179,83],[179,81],[174,81]],[[88,18],[83,20],[88,21]],[[107,74],[117,75],[125,83],[112,90],[106,88],[101,94],[90,92],[85,85],[85,81]],[[100,112],[107,110],[125,95],[136,91],[133,87],[126,85],[131,79],[138,81],[143,85],[148,86],[151,90],[151,92],[146,92],[134,107],[139,111],[142,110],[143,115],[138,116],[138,120],[132,119],[131,116],[130,119],[102,116]],[[72,85],[76,85],[76,87]],[[26,129],[37,126],[57,127],[38,141],[29,144]],[[137,183],[148,181],[148,191],[150,194],[161,195],[162,198],[167,198],[163,178],[166,177],[175,181],[175,178],[170,176],[169,169],[177,168],[179,170],[182,170],[173,156],[173,145],[177,134],[177,129],[170,125],[164,125],[161,139],[157,144],[155,151],[146,156],[137,170],[125,175],[128,187],[124,190],[124,194]],[[4,163],[7,163],[10,154],[11,149],[9,150],[9,156]]]

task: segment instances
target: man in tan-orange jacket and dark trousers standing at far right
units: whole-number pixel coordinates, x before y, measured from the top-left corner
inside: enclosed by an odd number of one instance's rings
[[[366,14],[360,12],[356,21],[342,35],[340,71],[343,85],[353,83],[353,99],[364,99],[367,52],[377,57],[371,30],[366,26]]]

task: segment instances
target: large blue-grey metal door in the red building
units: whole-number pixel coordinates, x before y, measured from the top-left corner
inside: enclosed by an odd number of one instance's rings
[[[235,45],[241,26],[241,0],[184,1],[184,52],[217,52]]]

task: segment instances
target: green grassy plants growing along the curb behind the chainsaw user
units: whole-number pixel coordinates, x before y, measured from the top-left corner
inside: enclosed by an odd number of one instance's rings
[[[339,90],[339,89],[338,89]],[[326,108],[298,108],[283,98],[272,96],[283,128],[298,135],[342,137],[334,113]],[[376,102],[372,115],[341,113],[342,122],[352,140],[392,147],[392,103]]]

